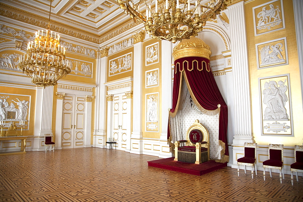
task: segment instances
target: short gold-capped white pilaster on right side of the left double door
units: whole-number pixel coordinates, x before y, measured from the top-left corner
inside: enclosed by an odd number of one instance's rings
[[[91,145],[91,129],[92,129],[92,99],[93,96],[85,96],[85,137],[83,147],[92,147]]]

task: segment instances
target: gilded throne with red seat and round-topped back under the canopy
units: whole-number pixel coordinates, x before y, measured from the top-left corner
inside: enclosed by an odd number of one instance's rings
[[[185,143],[185,146],[180,146]],[[186,132],[186,140],[175,142],[175,159],[187,163],[201,164],[209,159],[209,133],[201,125],[199,120],[195,120]]]

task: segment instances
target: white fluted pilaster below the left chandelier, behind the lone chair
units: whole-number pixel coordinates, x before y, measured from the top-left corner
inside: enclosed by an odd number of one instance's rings
[[[33,151],[43,151],[41,141],[44,141],[44,134],[52,134],[53,92],[53,86],[37,88],[34,136],[40,138],[34,138]]]

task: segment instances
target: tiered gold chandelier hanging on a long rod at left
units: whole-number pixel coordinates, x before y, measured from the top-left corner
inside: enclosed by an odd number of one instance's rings
[[[32,83],[43,88],[57,85],[59,79],[71,73],[65,61],[65,48],[60,47],[60,36],[50,31],[51,8],[52,0],[45,34],[43,30],[36,32],[35,43],[27,44],[26,54],[19,57],[18,64],[32,78]]]

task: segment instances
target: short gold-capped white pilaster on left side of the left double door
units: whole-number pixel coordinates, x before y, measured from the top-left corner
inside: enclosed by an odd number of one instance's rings
[[[62,123],[63,123],[63,100],[65,93],[56,93],[57,107],[56,107],[56,128],[55,128],[55,149],[62,149]]]

